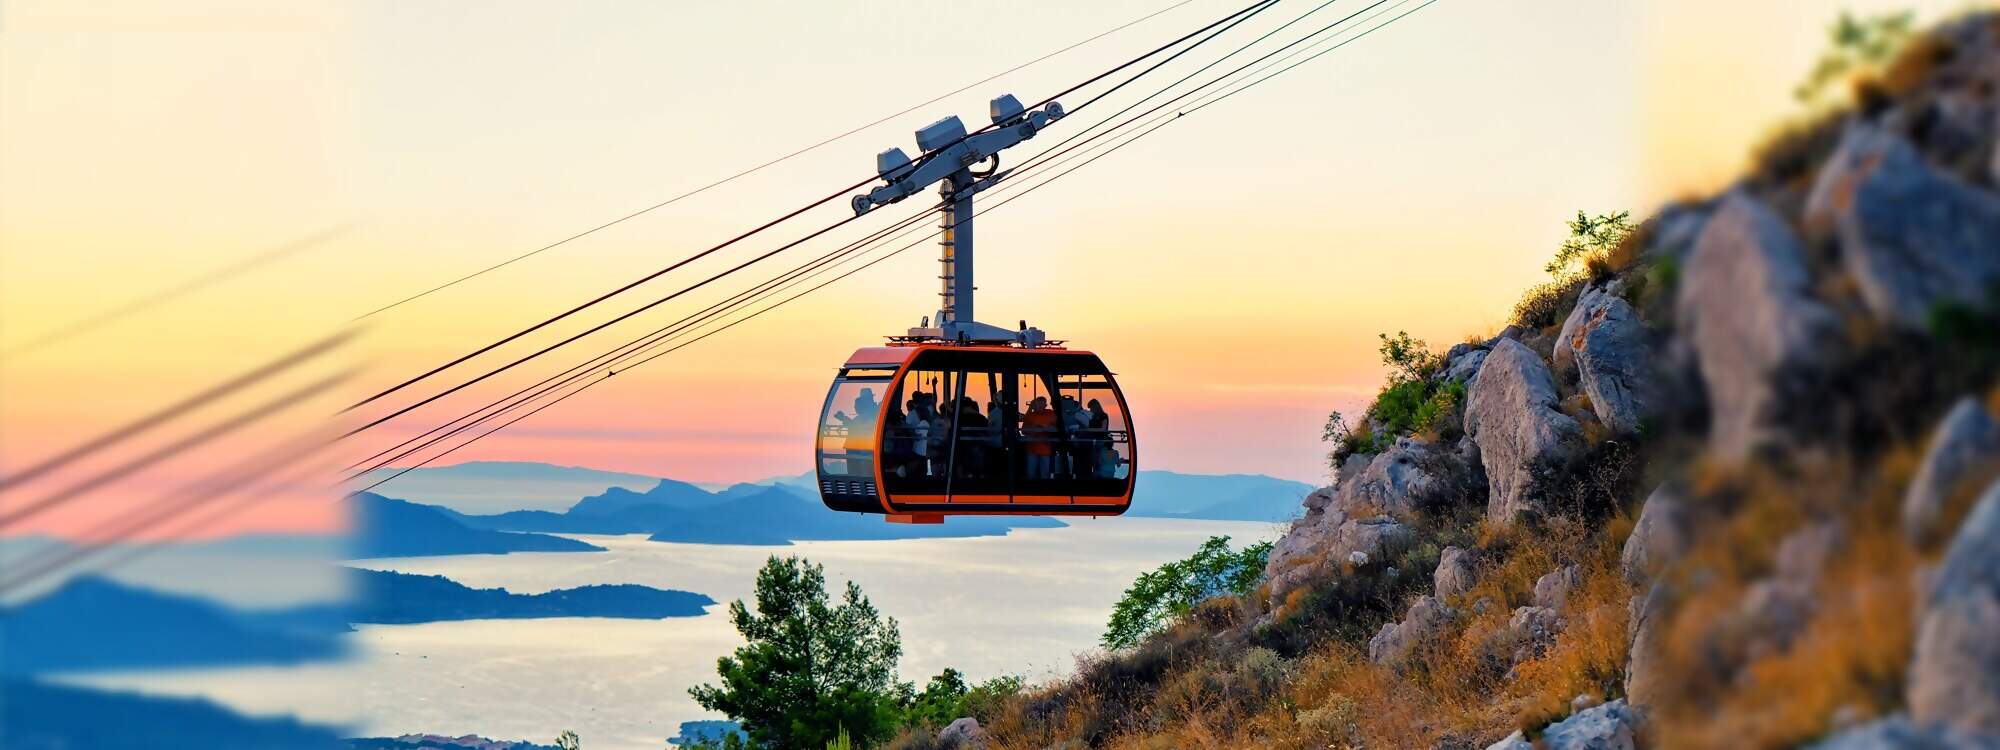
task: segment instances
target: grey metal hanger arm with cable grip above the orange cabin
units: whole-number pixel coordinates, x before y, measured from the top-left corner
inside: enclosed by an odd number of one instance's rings
[[[940,306],[936,326],[926,322],[924,328],[910,328],[910,336],[1038,346],[1046,340],[1038,328],[1024,324],[1022,330],[1006,330],[982,324],[972,314],[972,292],[976,290],[972,286],[972,196],[1006,180],[1008,172],[1000,170],[1000,152],[1034,138],[1050,122],[1060,120],[1062,104],[1048,102],[1040,110],[1026,112],[1014,94],[1004,94],[992,100],[988,116],[994,128],[978,134],[968,134],[958,116],[920,128],[916,146],[924,156],[914,162],[902,148],[876,154],[876,174],[882,176],[884,184],[854,196],[854,216],[938,184],[938,194],[944,198],[938,208]],[[972,170],[988,160],[992,166],[986,172]]]

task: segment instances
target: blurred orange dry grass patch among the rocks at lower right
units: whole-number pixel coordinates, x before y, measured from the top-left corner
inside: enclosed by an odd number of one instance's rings
[[[1668,620],[1656,702],[1664,748],[1788,748],[1824,736],[1842,710],[1878,716],[1898,708],[1914,638],[1916,550],[1896,512],[1918,452],[1886,452],[1868,470],[1846,462],[1808,476],[1768,468],[1710,470],[1700,498],[1728,512],[1676,570],[1688,592]],[[1834,518],[1844,528],[1804,628],[1782,648],[1752,650],[1760,634],[1738,622],[1750,584],[1772,568],[1774,540]]]

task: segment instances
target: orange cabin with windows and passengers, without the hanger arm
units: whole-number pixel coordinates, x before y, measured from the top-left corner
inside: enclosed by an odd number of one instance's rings
[[[1054,346],[874,346],[820,412],[828,508],[896,522],[1118,516],[1132,506],[1132,422],[1096,354]]]

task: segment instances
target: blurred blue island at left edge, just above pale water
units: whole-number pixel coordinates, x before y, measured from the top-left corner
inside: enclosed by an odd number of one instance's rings
[[[0,610],[0,672],[300,664],[340,656],[342,630],[330,606],[232,610],[84,576]]]

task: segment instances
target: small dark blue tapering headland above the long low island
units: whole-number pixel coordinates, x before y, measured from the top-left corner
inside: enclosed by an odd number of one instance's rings
[[[604,552],[602,546],[546,534],[470,528],[452,510],[384,498],[348,496],[354,558],[414,558],[432,554]]]

